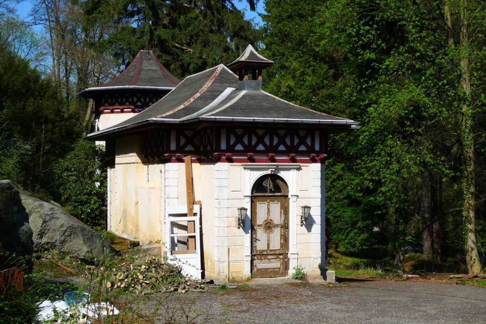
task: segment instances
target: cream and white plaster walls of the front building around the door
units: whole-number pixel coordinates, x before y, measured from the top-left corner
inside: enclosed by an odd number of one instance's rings
[[[186,205],[184,163],[145,164],[140,138],[117,140],[116,165],[110,171],[109,224],[112,231],[142,242],[165,243],[165,207]],[[237,228],[237,208],[251,217],[251,187],[270,172],[289,187],[289,274],[301,266],[307,273],[324,269],[324,165],[193,162],[195,201],[202,203],[201,228],[206,277],[224,279],[251,274],[251,229]],[[300,226],[301,206],[311,206],[306,226]],[[229,248],[229,260],[227,251]],[[322,266],[320,266],[322,265]]]

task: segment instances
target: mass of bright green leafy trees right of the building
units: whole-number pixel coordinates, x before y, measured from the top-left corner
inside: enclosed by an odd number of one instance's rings
[[[485,10],[482,2],[468,3],[476,153],[484,157],[478,145],[486,125]],[[397,255],[420,249],[425,224],[437,221],[444,255],[464,253],[459,21],[453,15],[451,48],[443,4],[266,1],[263,54],[275,61],[264,73],[266,90],[362,127],[329,143],[326,212],[342,252],[368,248],[375,226]],[[484,159],[475,160],[480,193]],[[436,195],[431,220],[425,220],[428,192]],[[486,210],[481,197],[478,224]],[[485,233],[477,231],[478,241]]]

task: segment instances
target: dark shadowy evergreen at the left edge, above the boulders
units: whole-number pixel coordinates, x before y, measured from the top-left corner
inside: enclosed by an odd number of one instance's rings
[[[0,172],[25,189],[51,191],[51,170],[79,137],[77,119],[49,78],[0,50]]]

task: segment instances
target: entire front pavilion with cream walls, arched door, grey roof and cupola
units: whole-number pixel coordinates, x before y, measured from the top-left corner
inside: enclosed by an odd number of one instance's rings
[[[113,145],[109,230],[197,278],[322,275],[328,138],[358,123],[263,91],[272,64],[248,46],[88,136]]]

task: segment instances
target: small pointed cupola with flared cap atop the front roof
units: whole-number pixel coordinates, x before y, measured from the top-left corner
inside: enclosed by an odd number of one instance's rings
[[[228,68],[242,80],[261,80],[262,70],[273,65],[273,61],[260,55],[252,45],[248,45],[245,51]]]

